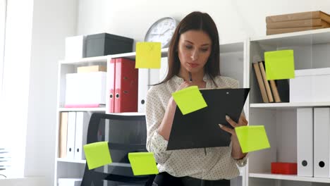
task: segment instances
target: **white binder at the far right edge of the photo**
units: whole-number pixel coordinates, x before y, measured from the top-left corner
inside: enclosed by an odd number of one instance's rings
[[[330,178],[330,108],[314,108],[314,177]]]

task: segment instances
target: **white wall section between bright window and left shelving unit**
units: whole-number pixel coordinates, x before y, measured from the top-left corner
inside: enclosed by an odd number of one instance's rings
[[[25,176],[54,184],[58,61],[65,37],[75,35],[77,0],[34,0]],[[26,61],[28,63],[28,61]]]

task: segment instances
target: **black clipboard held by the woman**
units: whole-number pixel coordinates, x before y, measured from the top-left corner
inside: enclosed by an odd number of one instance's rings
[[[200,89],[200,92],[207,107],[183,115],[176,106],[166,150],[229,146],[231,134],[219,128],[219,124],[232,128],[225,117],[238,121],[250,88]]]

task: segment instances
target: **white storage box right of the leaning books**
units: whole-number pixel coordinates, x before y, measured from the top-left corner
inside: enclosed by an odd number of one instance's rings
[[[295,70],[290,79],[290,102],[330,101],[330,68]]]

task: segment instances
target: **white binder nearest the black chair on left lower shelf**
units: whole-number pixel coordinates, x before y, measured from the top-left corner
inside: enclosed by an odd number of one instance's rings
[[[88,123],[90,123],[91,113],[77,112],[75,117],[75,159],[85,159],[83,146],[87,142]]]

